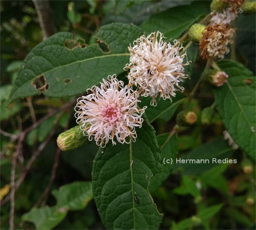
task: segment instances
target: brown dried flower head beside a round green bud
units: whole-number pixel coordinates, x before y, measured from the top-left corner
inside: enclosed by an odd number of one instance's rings
[[[235,30],[230,25],[216,24],[205,28],[199,48],[204,59],[224,58],[229,52],[228,43],[232,43]]]

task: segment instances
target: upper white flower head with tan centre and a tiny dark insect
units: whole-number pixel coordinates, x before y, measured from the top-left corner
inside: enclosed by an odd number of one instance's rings
[[[184,88],[179,86],[184,74],[184,65],[188,65],[183,59],[186,53],[180,55],[183,46],[177,40],[174,45],[163,41],[163,34],[159,31],[139,37],[128,47],[130,63],[125,65],[125,69],[130,69],[128,73],[129,85],[139,88],[139,93],[144,97],[152,97],[151,105],[156,105],[155,97],[172,99],[175,91],[183,92]]]

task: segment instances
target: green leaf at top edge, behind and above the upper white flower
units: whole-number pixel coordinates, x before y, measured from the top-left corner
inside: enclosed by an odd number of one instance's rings
[[[177,6],[154,14],[141,25],[148,34],[154,31],[162,32],[167,38],[178,38],[202,14],[209,13],[208,1],[196,1],[188,6]]]

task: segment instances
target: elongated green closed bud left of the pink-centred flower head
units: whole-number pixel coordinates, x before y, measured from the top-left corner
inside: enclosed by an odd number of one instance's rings
[[[84,136],[80,125],[61,133],[57,138],[57,145],[62,151],[73,150],[89,143],[88,136]]]

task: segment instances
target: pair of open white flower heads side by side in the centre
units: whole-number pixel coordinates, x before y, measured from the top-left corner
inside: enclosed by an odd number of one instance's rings
[[[163,41],[163,34],[151,33],[134,41],[130,63],[126,64],[129,85],[108,76],[108,80],[87,90],[87,95],[77,99],[75,107],[76,122],[89,140],[93,138],[102,148],[111,140],[116,145],[135,141],[136,127],[141,127],[145,107],[137,108],[140,96],[152,97],[151,105],[156,105],[156,97],[171,99],[175,91],[183,91],[179,86],[183,78],[183,59],[186,53],[180,54],[183,46],[177,40],[174,45]],[[137,86],[135,90],[132,85]]]

